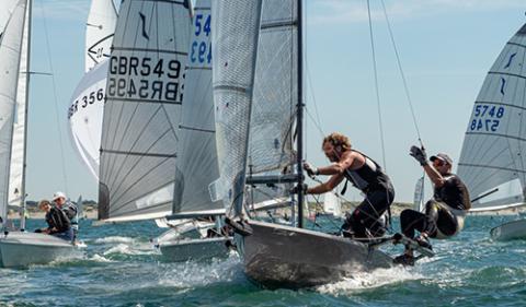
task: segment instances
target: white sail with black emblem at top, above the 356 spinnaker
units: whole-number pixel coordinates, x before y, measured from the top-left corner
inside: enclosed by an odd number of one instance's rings
[[[110,57],[117,10],[113,0],[92,0],[85,24],[85,71]]]

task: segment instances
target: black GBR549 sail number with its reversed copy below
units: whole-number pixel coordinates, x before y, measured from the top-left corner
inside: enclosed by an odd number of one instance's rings
[[[182,78],[184,68],[171,54],[158,58],[112,56],[106,94],[110,98],[181,103]]]

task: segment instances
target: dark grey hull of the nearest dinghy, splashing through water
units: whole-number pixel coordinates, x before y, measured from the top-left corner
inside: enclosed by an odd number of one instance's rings
[[[250,221],[253,234],[238,246],[244,272],[265,287],[309,287],[392,267],[392,259],[343,237]]]

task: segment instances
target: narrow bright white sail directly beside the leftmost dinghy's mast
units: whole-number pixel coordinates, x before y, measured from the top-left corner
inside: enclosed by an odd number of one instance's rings
[[[30,5],[27,3],[27,5]],[[9,175],[9,205],[22,206],[24,201],[24,167],[25,167],[25,133],[27,131],[25,125],[27,108],[27,85],[28,85],[28,67],[30,67],[30,26],[31,11],[25,10],[24,32],[22,37],[22,50],[20,54],[19,82],[16,85],[16,106],[15,118],[13,123],[13,139],[11,146],[11,167]]]

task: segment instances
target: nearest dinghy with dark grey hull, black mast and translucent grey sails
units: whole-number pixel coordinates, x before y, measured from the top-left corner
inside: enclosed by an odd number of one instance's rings
[[[299,191],[296,199],[288,192],[293,184],[301,186],[304,180],[300,16],[301,1],[295,0],[213,3],[220,178],[210,186],[210,194],[224,200],[227,221],[237,229],[245,274],[266,287],[315,286],[393,265],[376,248],[379,245],[305,229],[304,196]],[[253,122],[263,123],[256,130]],[[260,164],[265,167],[256,174]],[[295,204],[293,212],[297,210],[297,221],[291,223],[297,226],[247,219],[245,184],[274,188],[272,198],[287,197]]]

